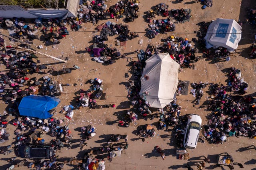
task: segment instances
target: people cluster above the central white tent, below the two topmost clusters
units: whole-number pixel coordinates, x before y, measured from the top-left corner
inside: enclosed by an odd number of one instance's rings
[[[148,25],[146,36],[149,39],[158,35],[158,33],[166,33],[169,31],[175,31],[176,25],[171,21],[171,18],[162,19],[162,20],[153,20],[153,23]]]

